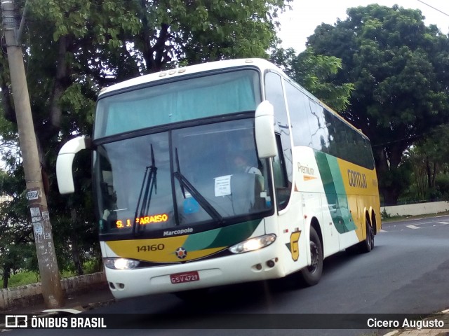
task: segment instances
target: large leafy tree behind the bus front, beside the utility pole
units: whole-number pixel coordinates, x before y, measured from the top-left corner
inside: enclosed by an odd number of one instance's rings
[[[267,57],[285,6],[281,0],[33,1],[28,69],[39,84],[30,94],[41,138],[90,133],[93,102],[112,83],[177,64]],[[1,86],[7,89],[7,81]]]

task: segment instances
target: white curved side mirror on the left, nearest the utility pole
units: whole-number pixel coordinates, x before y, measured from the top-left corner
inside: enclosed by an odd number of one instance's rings
[[[90,148],[91,143],[85,137],[76,137],[67,141],[58,153],[56,159],[56,178],[60,194],[74,193],[72,164],[75,154],[79,151]]]

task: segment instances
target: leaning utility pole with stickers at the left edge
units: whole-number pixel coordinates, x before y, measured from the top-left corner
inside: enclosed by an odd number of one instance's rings
[[[25,4],[26,6],[26,4]],[[55,244],[51,230],[47,200],[43,191],[41,165],[37,150],[36,134],[29,104],[27,78],[23,64],[22,48],[17,33],[13,0],[1,0],[6,50],[13,90],[15,116],[22,151],[27,199],[31,213],[34,242],[36,244],[39,272],[41,274],[43,301],[47,308],[60,308],[64,303]]]

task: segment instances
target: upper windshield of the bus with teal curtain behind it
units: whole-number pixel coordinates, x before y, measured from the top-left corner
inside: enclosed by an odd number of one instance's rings
[[[260,102],[255,70],[166,81],[100,98],[94,139],[146,127],[254,111]]]

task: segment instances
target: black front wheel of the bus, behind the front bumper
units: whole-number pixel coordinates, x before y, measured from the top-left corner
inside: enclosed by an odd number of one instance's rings
[[[319,283],[323,273],[323,248],[321,240],[314,228],[310,228],[310,258],[311,265],[301,269],[300,278],[306,286]]]

